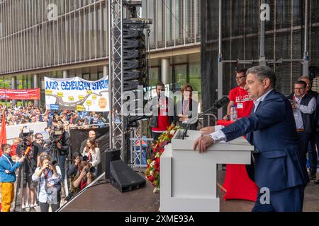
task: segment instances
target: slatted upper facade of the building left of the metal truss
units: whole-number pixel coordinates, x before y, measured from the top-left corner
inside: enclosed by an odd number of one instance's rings
[[[0,74],[106,59],[106,3],[0,1]]]

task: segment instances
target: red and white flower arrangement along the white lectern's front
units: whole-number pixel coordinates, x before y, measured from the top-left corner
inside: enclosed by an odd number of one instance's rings
[[[170,143],[174,134],[178,129],[181,129],[180,126],[171,125],[159,136],[158,140],[153,143],[153,157],[147,160],[147,169],[145,169],[145,177],[153,186],[155,186],[154,192],[159,191],[159,160],[164,152],[164,147],[167,143]]]

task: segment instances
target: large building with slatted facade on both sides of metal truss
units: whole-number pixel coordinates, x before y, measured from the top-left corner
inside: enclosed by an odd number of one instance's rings
[[[172,88],[193,82],[201,90],[200,12],[200,0],[142,0],[141,16],[153,19],[150,86],[163,79],[161,60],[169,58]],[[42,86],[44,76],[65,72],[96,80],[107,64],[108,0],[0,0],[0,85],[33,88],[33,75]]]

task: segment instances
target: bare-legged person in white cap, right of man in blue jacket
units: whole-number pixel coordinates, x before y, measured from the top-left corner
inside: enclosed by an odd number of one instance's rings
[[[28,129],[23,129],[21,143],[18,145],[16,149],[16,154],[18,156],[23,156],[25,150],[30,148],[30,152],[26,155],[26,161],[23,163],[23,201],[22,208],[26,208],[26,188],[28,185],[29,190],[29,201],[28,204],[30,208],[34,208],[36,206],[35,203],[35,183],[32,181],[32,174],[35,171],[35,168],[38,165],[38,155],[40,154],[38,145],[34,145],[33,142],[33,131],[29,131]]]

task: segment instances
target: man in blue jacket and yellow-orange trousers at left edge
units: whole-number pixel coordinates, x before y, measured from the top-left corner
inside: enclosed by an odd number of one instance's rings
[[[26,157],[21,157],[16,163],[11,159],[11,145],[4,144],[4,154],[0,157],[0,183],[2,212],[10,212],[10,206],[14,198],[14,182],[16,181],[16,169]]]

